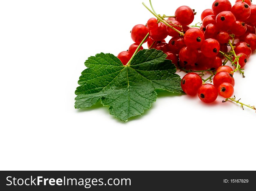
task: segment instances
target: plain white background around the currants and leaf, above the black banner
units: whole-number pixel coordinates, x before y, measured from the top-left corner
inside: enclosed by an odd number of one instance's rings
[[[256,170],[256,113],[220,97],[204,104],[161,93],[127,123],[100,104],[74,109],[84,61],[128,49],[131,28],[152,17],[141,3],[1,1],[1,170]],[[152,3],[166,15],[190,6],[197,23],[212,1]],[[235,95],[252,105],[255,61],[245,79],[235,75]]]

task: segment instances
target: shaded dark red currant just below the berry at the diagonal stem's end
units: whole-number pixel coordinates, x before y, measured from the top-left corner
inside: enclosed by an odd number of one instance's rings
[[[186,65],[194,65],[198,60],[199,53],[196,49],[190,47],[183,47],[179,51],[179,61]]]

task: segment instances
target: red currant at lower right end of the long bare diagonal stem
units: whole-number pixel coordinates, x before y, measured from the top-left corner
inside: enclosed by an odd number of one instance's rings
[[[184,43],[190,48],[200,48],[204,40],[205,35],[199,28],[190,28],[184,35]]]

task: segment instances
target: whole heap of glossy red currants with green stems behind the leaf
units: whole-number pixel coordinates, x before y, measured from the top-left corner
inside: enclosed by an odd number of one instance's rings
[[[256,50],[256,5],[250,0],[236,0],[234,6],[228,0],[215,0],[211,9],[202,12],[200,26],[189,26],[195,13],[188,6],[177,8],[174,16],[147,9],[156,18],[132,28],[135,43],[118,54],[122,63],[126,65],[147,42],[149,49],[163,51],[177,68],[189,72],[181,82],[186,94],[198,94],[206,103],[215,101],[218,94],[230,98],[234,94],[233,73],[239,71],[244,77],[243,67]],[[168,35],[171,39],[167,43]],[[226,66],[228,61],[231,67]],[[211,76],[204,80],[206,72]],[[206,83],[212,77],[213,85]]]

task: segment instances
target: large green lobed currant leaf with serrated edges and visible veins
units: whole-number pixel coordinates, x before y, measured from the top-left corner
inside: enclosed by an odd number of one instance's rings
[[[75,94],[75,108],[98,101],[116,118],[127,121],[142,115],[157,99],[155,90],[182,93],[180,76],[166,54],[156,49],[139,51],[129,66],[113,54],[96,54],[86,60]]]

